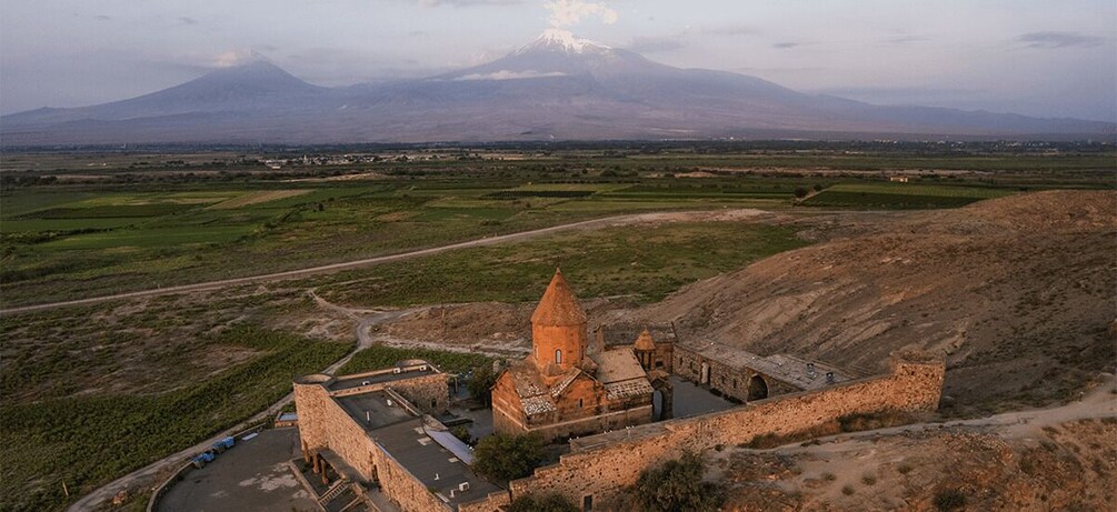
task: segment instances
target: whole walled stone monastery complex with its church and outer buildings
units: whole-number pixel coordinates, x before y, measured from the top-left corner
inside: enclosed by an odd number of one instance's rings
[[[305,485],[324,510],[491,511],[525,494],[557,493],[583,510],[617,510],[641,471],[684,451],[787,435],[849,414],[934,410],[943,363],[894,355],[891,371],[852,375],[790,355],[758,356],[674,328],[604,326],[555,272],[532,316],[532,351],[491,389],[497,433],[569,443],[557,464],[505,489],[470,468],[471,448],[439,418],[449,376],[433,365],[295,380]],[[724,410],[674,417],[686,383],[724,399]],[[736,404],[736,405],[733,405]]]

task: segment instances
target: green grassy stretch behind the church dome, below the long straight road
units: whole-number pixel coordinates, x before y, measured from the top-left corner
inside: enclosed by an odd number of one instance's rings
[[[521,302],[561,267],[582,298],[629,294],[656,301],[681,286],[805,243],[782,226],[677,223],[570,232],[459,250],[327,278],[331,301],[364,306]],[[321,283],[322,280],[317,280]]]

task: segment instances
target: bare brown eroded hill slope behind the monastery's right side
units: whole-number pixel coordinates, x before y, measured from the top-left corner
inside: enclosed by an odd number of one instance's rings
[[[944,404],[965,413],[1076,396],[1113,369],[1117,193],[1022,194],[859,231],[622,316],[869,370],[919,346],[947,356]]]

